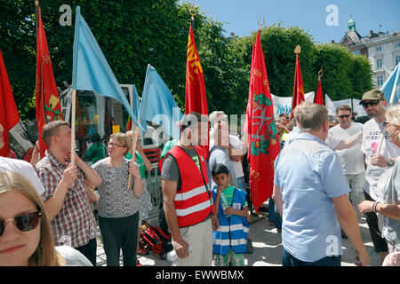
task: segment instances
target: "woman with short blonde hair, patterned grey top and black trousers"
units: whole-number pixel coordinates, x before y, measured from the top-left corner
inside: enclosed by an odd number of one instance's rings
[[[136,265],[139,200],[143,192],[140,171],[124,159],[130,143],[124,133],[114,133],[108,141],[108,157],[92,165],[102,184],[97,187],[99,227],[107,256],[107,266],[119,266],[122,248],[124,266]],[[132,174],[128,188],[129,174]]]

